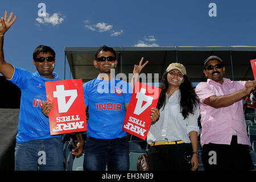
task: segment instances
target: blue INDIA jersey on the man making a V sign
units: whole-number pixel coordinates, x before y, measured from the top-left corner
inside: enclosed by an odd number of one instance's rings
[[[130,102],[133,89],[116,78],[105,81],[98,76],[83,85],[85,105],[89,108],[88,137],[114,139],[126,136],[122,130],[125,104]]]

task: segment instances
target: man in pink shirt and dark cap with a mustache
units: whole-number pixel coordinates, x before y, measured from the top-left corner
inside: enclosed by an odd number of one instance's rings
[[[202,160],[205,170],[250,170],[250,158],[242,98],[256,88],[254,81],[230,81],[217,56],[204,61],[207,82],[196,86],[200,100]]]

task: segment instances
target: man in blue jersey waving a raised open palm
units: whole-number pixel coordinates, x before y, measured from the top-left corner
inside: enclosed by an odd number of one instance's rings
[[[3,38],[16,16],[7,11],[0,21],[0,73],[5,78],[17,85],[22,96],[20,98],[20,113],[18,134],[15,147],[15,170],[63,170],[63,142],[61,135],[51,136],[49,119],[42,113],[41,107],[46,101],[46,81],[60,80],[55,68],[55,51],[48,46],[38,46],[33,53],[33,64],[37,72],[16,68],[5,61],[3,55]],[[83,150],[84,140],[77,133],[79,139],[80,155]],[[42,157],[41,159],[39,159]]]

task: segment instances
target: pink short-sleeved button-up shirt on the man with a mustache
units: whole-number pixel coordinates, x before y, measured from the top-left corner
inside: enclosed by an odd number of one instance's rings
[[[242,90],[245,86],[245,81],[230,81],[228,78],[223,80],[222,85],[208,79],[196,86],[196,94],[200,100],[201,146],[208,143],[230,144],[234,131],[237,133],[238,143],[251,146],[247,137],[242,99],[218,109],[203,103],[210,96],[225,96]]]

